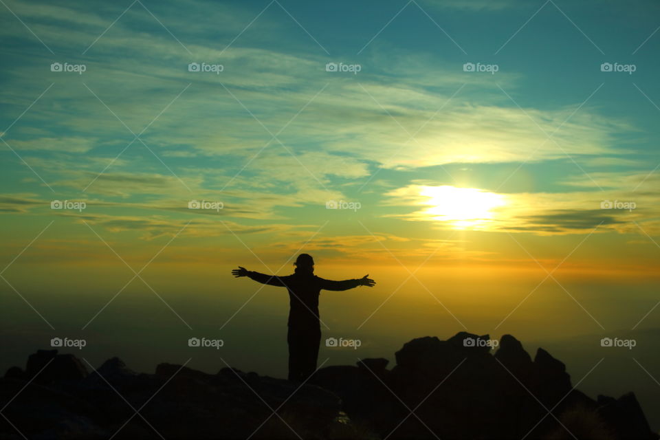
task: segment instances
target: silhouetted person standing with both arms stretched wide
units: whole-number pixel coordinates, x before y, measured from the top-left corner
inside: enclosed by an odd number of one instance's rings
[[[274,276],[246,270],[239,266],[232,274],[248,276],[259,283],[286,287],[289,290],[289,380],[303,382],[316,371],[321,327],[318,318],[318,295],[321,289],[348,290],[358,286],[373,287],[375,281],[369,274],[359,279],[331,281],[314,275],[314,259],[300,254],[296,259],[294,274]]]

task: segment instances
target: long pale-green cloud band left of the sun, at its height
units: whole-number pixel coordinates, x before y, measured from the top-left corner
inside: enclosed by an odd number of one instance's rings
[[[63,174],[71,178],[54,181],[52,185],[55,188],[74,190],[89,185],[85,191],[87,197],[94,195],[124,199],[111,202],[118,207],[190,213],[187,209],[188,201],[207,200],[222,202],[223,215],[248,219],[281,219],[284,217],[274,213],[276,208],[305,205],[325,208],[328,200],[346,199],[340,191],[320,187],[322,184],[318,184],[312,176],[317,176],[327,184],[329,175],[349,178],[366,173],[360,166],[352,166],[341,157],[324,153],[301,155],[299,160],[305,161],[304,166],[287,153],[265,155],[254,161],[256,170],[246,170],[238,176],[222,175],[219,174],[222,170],[214,168],[184,170],[185,173],[179,177],[185,186],[174,175],[131,173],[127,170],[100,175],[69,170]],[[137,198],[140,201],[136,201]],[[214,211],[199,210],[195,214],[214,214]]]

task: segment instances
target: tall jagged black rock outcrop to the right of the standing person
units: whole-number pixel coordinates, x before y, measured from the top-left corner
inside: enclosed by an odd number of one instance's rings
[[[466,332],[417,338],[378,377],[331,366],[312,381],[337,393],[353,421],[388,439],[658,438],[632,393],[595,401],[573,390],[566,367],[547,351],[532,360],[505,335],[493,355],[488,341]]]

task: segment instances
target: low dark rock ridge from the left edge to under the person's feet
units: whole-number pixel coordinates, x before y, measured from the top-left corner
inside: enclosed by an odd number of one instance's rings
[[[47,356],[61,356],[53,352]],[[47,356],[31,356],[31,367]],[[118,358],[78,380],[65,369],[39,380],[45,371],[29,384],[15,369],[0,380],[0,406],[10,402],[3,414],[30,439],[108,439],[117,431],[114,439],[360,438],[340,399],[311,384],[173,364],[135,373]],[[23,438],[5,419],[0,428],[0,439]]]

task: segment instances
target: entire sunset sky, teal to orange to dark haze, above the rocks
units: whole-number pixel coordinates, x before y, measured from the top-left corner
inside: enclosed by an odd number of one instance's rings
[[[281,377],[285,293],[230,270],[308,252],[378,283],[322,294],[324,334],[364,344],[320,361],[511,333],[660,408],[659,12],[3,0],[3,368],[69,337],[213,371],[185,344],[213,336]]]

